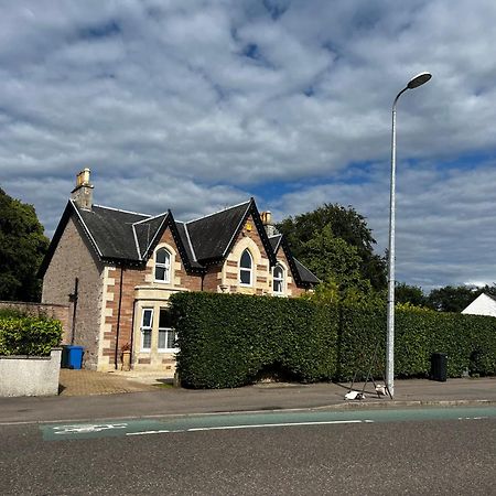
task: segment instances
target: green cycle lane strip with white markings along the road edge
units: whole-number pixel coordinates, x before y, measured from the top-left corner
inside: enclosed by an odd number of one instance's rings
[[[496,418],[496,407],[424,408],[357,411],[278,411],[263,413],[219,413],[153,419],[122,419],[95,422],[43,424],[45,441],[150,435],[211,430],[262,429],[280,427],[360,424],[408,420],[484,420]]]

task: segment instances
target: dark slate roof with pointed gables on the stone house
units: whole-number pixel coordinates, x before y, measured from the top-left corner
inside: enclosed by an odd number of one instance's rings
[[[296,260],[293,261],[281,235],[272,238],[267,236],[254,198],[188,223],[174,220],[171,211],[155,216],[100,205],[94,205],[91,211],[88,211],[69,201],[43,260],[40,274],[43,277],[46,271],[71,217],[78,222],[100,260],[122,265],[145,263],[169,226],[186,270],[203,272],[209,263],[225,259],[250,215],[272,266],[277,262],[276,252],[282,245],[296,283],[308,285],[319,282],[304,266]]]

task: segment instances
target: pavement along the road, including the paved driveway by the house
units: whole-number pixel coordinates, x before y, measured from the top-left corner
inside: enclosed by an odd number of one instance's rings
[[[191,390],[166,378],[140,373],[63,370],[62,395],[0,398],[0,424],[19,422],[122,419],[168,414],[270,411],[316,408],[412,408],[496,405],[496,377],[395,381],[395,399],[379,399],[370,384],[362,401],[346,401],[348,385],[258,384],[236,389]],[[362,384],[355,385],[362,389]]]

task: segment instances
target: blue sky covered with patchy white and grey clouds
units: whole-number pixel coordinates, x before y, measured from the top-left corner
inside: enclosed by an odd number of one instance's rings
[[[0,0],[0,187],[52,236],[96,204],[188,220],[352,205],[397,280],[496,282],[494,0]]]

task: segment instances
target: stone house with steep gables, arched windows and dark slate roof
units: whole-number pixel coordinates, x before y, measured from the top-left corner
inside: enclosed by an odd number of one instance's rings
[[[43,260],[43,303],[73,305],[66,343],[84,366],[175,369],[168,300],[177,291],[298,296],[319,282],[291,255],[254,198],[187,223],[93,204],[89,170],[77,176]]]

